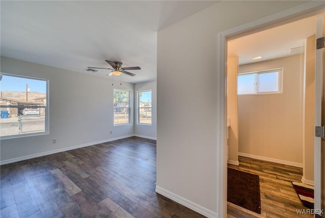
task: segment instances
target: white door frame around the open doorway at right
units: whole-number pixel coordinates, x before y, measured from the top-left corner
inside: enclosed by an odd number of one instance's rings
[[[217,217],[227,216],[227,160],[226,160],[226,78],[227,42],[229,40],[261,32],[262,30],[319,14],[325,10],[325,2],[311,1],[305,4],[272,14],[270,16],[224,30],[219,33],[218,72],[217,72]]]

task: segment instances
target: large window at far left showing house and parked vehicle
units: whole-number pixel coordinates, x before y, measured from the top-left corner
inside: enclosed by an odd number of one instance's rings
[[[17,138],[48,133],[48,81],[1,74],[0,137]]]

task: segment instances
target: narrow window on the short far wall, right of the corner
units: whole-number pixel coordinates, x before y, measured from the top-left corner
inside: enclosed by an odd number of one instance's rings
[[[151,90],[138,91],[138,123],[151,124]]]

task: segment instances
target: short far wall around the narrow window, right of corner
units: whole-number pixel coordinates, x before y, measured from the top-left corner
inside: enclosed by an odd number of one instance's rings
[[[137,108],[138,91],[151,90],[151,125],[138,124],[137,112],[135,112],[135,134],[140,137],[157,138],[157,81],[149,81],[135,84],[135,108]]]

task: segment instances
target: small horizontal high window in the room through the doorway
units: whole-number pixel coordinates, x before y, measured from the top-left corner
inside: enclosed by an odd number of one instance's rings
[[[282,92],[282,68],[238,75],[237,93],[271,94]]]

